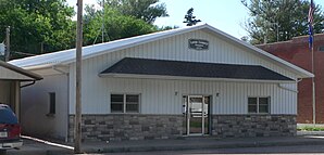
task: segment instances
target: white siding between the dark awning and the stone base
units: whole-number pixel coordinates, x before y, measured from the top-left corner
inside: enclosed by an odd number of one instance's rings
[[[84,86],[83,113],[109,114],[111,93],[140,93],[142,114],[182,114],[186,94],[212,95],[213,114],[247,114],[248,96],[271,96],[271,114],[297,113],[296,92],[276,83],[130,78],[104,78],[100,86]],[[74,105],[70,113],[74,114]]]

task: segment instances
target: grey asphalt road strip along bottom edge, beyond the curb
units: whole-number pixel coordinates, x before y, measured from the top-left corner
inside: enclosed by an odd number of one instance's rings
[[[324,145],[298,145],[298,146],[271,146],[271,147],[244,147],[244,148],[217,148],[167,152],[138,152],[138,153],[110,153],[105,155],[242,155],[242,154],[323,154]]]

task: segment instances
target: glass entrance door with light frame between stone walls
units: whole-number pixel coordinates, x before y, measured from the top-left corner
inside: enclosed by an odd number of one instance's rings
[[[187,135],[209,133],[209,96],[185,95]]]

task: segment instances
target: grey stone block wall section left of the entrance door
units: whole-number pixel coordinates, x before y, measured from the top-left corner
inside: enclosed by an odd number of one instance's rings
[[[183,134],[183,115],[110,114],[83,115],[83,141],[172,139]],[[74,115],[68,141],[73,141]]]

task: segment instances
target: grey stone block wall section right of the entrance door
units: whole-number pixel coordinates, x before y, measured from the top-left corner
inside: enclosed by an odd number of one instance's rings
[[[212,134],[219,138],[292,137],[296,115],[214,115]]]

